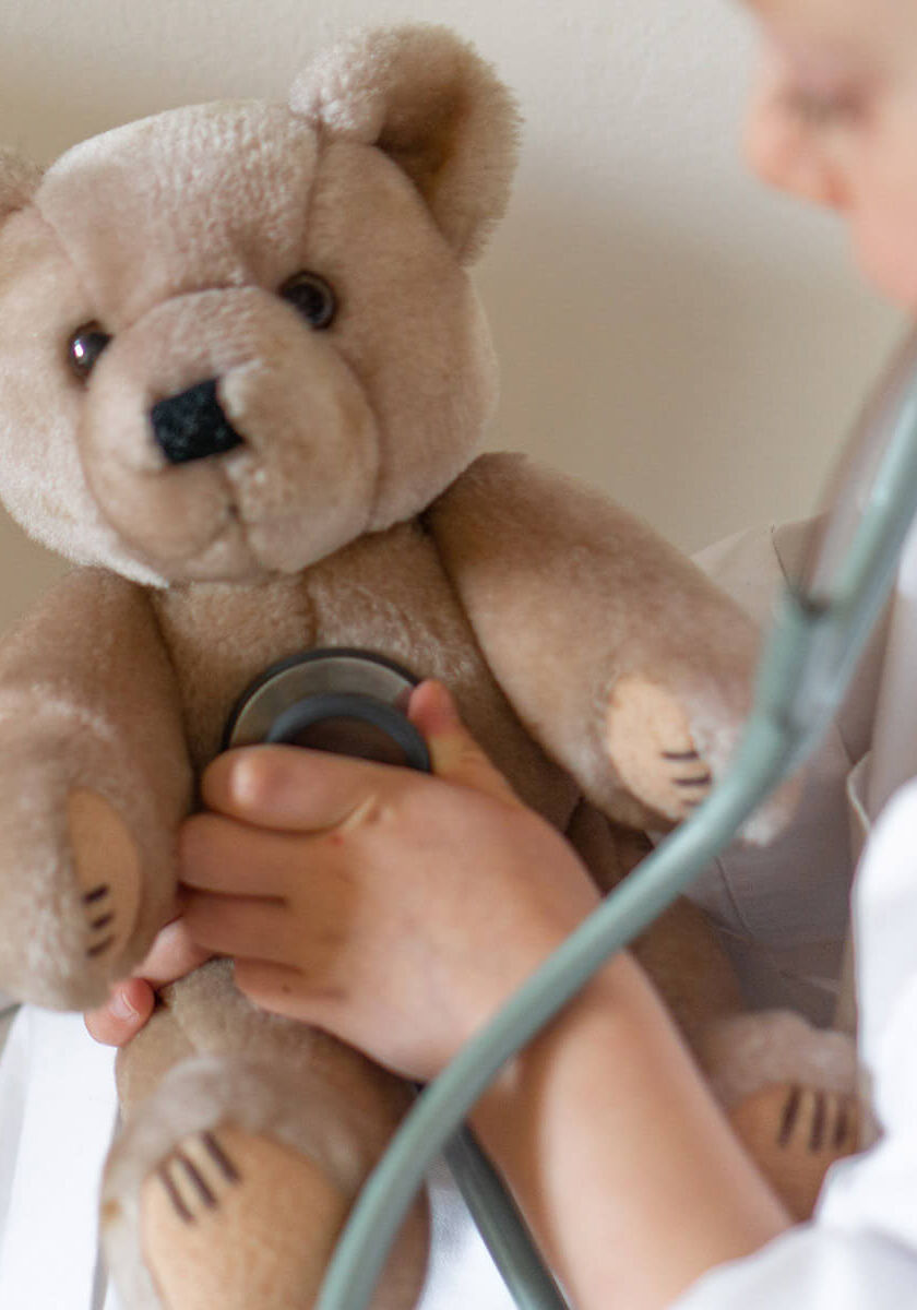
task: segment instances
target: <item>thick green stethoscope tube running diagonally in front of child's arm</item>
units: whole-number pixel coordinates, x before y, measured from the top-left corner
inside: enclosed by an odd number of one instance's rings
[[[888,597],[917,512],[917,384],[897,406],[886,455],[829,595],[789,588],[761,662],[752,714],[728,772],[707,800],[643,861],[430,1083],[354,1207],[317,1310],[364,1310],[398,1227],[434,1159],[500,1068],[616,951],[639,935],[713,861],[817,744]],[[524,1243],[523,1243],[524,1246]],[[519,1255],[511,1290],[524,1310],[562,1306],[557,1285]],[[540,1262],[536,1264],[540,1265]]]

